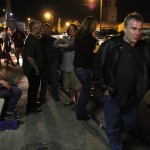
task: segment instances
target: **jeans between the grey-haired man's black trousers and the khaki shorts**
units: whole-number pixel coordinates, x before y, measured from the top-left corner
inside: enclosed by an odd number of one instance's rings
[[[57,77],[58,77],[58,62],[54,61],[53,63],[49,63],[49,79],[52,87],[52,96],[58,97],[58,85],[57,85]]]

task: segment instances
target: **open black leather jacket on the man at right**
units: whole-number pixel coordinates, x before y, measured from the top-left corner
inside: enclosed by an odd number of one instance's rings
[[[93,66],[93,80],[102,92],[109,90],[111,96],[116,93],[115,68],[123,49],[123,35],[104,42],[97,53]],[[139,40],[135,45],[138,64],[136,92],[140,99],[150,86],[150,45]]]

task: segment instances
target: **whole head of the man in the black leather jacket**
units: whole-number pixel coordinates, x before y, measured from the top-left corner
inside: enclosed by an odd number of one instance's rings
[[[124,39],[132,46],[140,39],[143,28],[143,17],[133,12],[124,19]]]

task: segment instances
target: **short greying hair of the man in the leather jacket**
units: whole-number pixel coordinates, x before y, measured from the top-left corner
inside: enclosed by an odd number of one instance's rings
[[[143,17],[138,12],[132,12],[124,19],[124,26],[126,27],[131,19],[143,22]]]

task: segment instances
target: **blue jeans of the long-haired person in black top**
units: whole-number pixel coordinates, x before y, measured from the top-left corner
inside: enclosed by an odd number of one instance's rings
[[[82,89],[77,103],[77,119],[82,120],[86,117],[86,105],[90,98],[90,87],[91,87],[91,71],[90,69],[75,68],[75,73],[79,77],[82,84]]]

